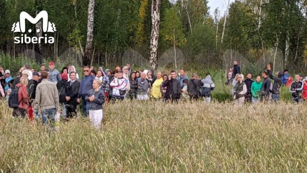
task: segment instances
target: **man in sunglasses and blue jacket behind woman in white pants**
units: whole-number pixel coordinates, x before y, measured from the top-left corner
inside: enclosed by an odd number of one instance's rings
[[[84,99],[87,95],[87,92],[93,89],[93,80],[95,79],[94,76],[91,75],[90,68],[85,66],[83,68],[84,77],[81,80],[80,88],[79,88],[79,94],[77,102],[81,103],[82,100],[82,114],[83,117],[87,117],[89,115],[89,109],[86,107],[86,100]]]

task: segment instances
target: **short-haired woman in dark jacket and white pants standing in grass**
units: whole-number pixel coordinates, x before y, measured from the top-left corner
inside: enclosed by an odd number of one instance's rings
[[[91,124],[99,129],[103,117],[102,104],[104,103],[104,92],[100,89],[101,81],[95,79],[93,81],[93,89],[87,93],[85,100],[86,107],[90,110]]]

